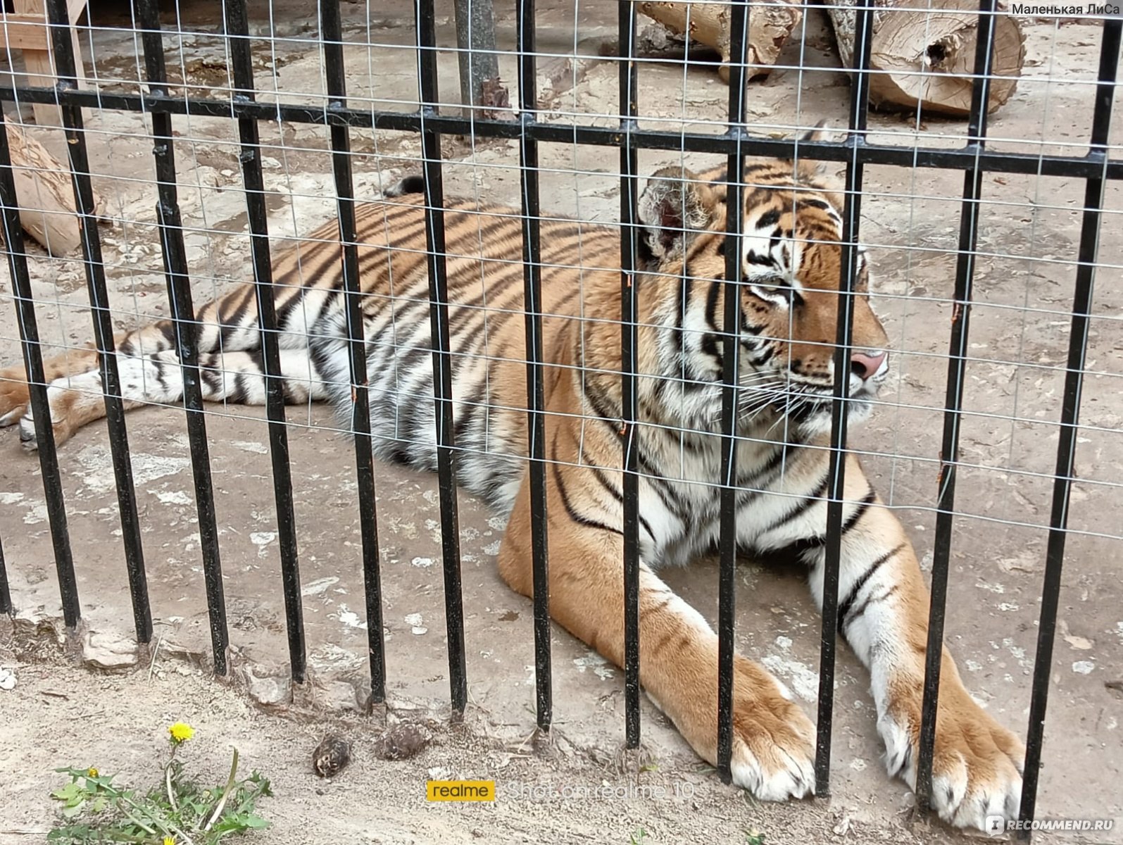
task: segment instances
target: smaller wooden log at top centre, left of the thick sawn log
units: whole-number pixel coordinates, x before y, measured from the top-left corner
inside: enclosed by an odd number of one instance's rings
[[[657,2],[643,0],[639,10],[672,31],[687,35],[721,54],[719,75],[729,82],[731,3]],[[752,6],[749,11],[749,79],[766,76],[776,64],[784,42],[800,21],[803,11],[786,2]]]

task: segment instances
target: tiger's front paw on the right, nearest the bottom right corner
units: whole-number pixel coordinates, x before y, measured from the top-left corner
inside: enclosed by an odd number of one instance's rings
[[[917,693],[919,694],[919,693]],[[919,699],[917,699],[919,701]],[[916,788],[920,707],[878,723],[889,774]],[[1025,747],[962,688],[941,684],[932,760],[932,808],[956,827],[986,829],[988,816],[1017,818]]]

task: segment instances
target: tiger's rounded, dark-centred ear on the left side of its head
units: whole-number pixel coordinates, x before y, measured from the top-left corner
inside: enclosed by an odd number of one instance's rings
[[[652,257],[665,261],[684,252],[699,230],[713,222],[716,197],[685,167],[664,167],[651,174],[639,198],[639,220],[647,229]]]

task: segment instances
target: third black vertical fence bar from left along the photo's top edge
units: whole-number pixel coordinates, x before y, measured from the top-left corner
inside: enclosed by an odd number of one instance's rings
[[[249,49],[249,22],[246,0],[223,0],[226,37],[230,47],[234,99],[254,99],[254,69]],[[246,189],[249,217],[249,246],[254,260],[254,292],[257,294],[257,321],[261,327],[265,363],[265,409],[270,424],[270,454],[273,458],[273,494],[277,510],[277,536],[281,547],[281,582],[284,591],[285,626],[292,679],[304,682],[304,615],[300,602],[300,562],[296,556],[296,520],[292,506],[292,471],[289,464],[289,437],[284,418],[284,378],[277,343],[277,316],[273,301],[273,266],[266,222],[265,183],[262,179],[262,147],[255,118],[238,118],[241,143],[241,178]],[[292,294],[299,299],[300,294]]]

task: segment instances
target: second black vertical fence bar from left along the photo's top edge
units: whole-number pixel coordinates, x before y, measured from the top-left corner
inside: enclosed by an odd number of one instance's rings
[[[145,73],[153,94],[167,93],[167,70],[164,63],[164,40],[161,34],[157,0],[137,0],[137,20],[141,29]],[[229,636],[226,625],[226,597],[222,588],[222,562],[214,518],[214,487],[211,481],[210,448],[207,444],[207,419],[203,412],[202,382],[199,375],[199,324],[191,298],[191,280],[183,244],[183,222],[176,190],[175,149],[172,116],[152,112],[153,156],[156,163],[156,190],[159,201],[159,245],[164,256],[167,301],[175,328],[175,352],[183,376],[183,407],[188,417],[188,445],[195,485],[195,510],[199,515],[199,545],[203,556],[203,583],[207,589],[207,614],[210,620],[211,651],[214,672],[227,672],[226,649]]]

